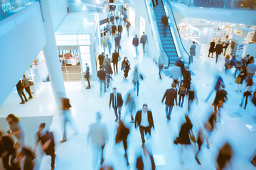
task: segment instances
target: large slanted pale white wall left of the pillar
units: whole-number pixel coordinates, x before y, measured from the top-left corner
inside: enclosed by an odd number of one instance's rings
[[[0,106],[45,45],[38,3],[0,21]]]

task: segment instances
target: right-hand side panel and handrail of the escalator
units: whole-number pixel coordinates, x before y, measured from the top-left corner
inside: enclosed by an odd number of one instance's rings
[[[174,17],[174,12],[171,8],[171,4],[169,3],[169,0],[162,0],[162,1],[163,1],[163,4],[166,4],[166,5],[164,5],[166,15],[169,16],[170,19],[172,19],[171,20],[172,22],[170,22],[170,21],[169,22],[174,23],[174,24],[171,24],[171,26],[173,26],[173,27],[170,27],[170,28],[174,28],[174,29],[171,29],[171,33],[172,33],[173,38],[174,38],[174,43],[176,44],[176,50],[178,52],[178,56],[182,57],[183,62],[188,62],[189,58],[190,58],[190,55],[186,51],[186,48],[184,47],[183,42],[181,40],[181,35],[178,31],[176,19]],[[179,41],[177,40],[177,38],[178,38]],[[187,55],[187,57],[185,57],[185,55]]]

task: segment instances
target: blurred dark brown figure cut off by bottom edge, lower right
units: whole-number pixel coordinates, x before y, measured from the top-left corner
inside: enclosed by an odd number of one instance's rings
[[[217,170],[222,170],[225,169],[225,167],[227,166],[227,164],[230,163],[230,160],[233,157],[233,149],[230,146],[230,144],[228,142],[226,142],[223,147],[220,148],[220,151],[218,153],[218,157],[216,160],[216,169]]]

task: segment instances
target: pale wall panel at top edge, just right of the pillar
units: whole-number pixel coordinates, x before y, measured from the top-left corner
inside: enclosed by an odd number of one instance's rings
[[[68,0],[49,0],[53,30],[56,30],[68,14]]]

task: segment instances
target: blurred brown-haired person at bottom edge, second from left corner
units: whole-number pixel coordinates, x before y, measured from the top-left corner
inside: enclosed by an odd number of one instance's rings
[[[35,155],[32,150],[27,147],[22,147],[21,151],[17,154],[17,161],[19,164],[20,170],[33,170],[35,163],[33,159],[35,159]]]

